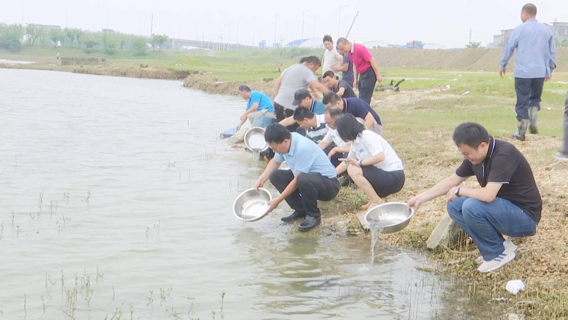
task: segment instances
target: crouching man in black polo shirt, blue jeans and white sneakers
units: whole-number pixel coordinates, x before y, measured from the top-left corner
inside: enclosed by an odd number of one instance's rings
[[[478,272],[491,272],[515,259],[517,246],[503,235],[536,233],[542,200],[531,166],[511,143],[489,136],[479,124],[465,122],[453,134],[463,156],[456,173],[408,201],[421,204],[446,194],[448,214],[475,241],[481,256]],[[460,187],[475,175],[481,187]]]

